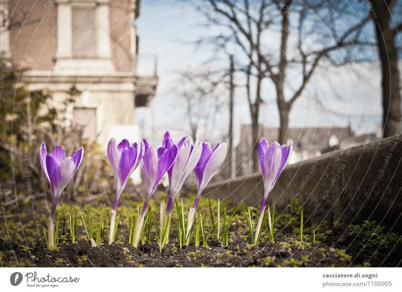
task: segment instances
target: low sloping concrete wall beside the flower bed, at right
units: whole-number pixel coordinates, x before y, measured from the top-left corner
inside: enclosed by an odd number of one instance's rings
[[[295,198],[305,210],[305,222],[360,224],[375,220],[402,229],[402,136],[364,145],[354,141],[345,150],[287,166],[268,202],[283,212]],[[211,198],[244,200],[258,205],[263,194],[259,173],[211,184],[204,192]]]

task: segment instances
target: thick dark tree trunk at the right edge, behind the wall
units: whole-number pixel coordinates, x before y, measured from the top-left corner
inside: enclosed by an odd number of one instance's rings
[[[391,14],[388,5],[381,1],[371,1],[378,15],[372,15],[378,43],[378,54],[382,69],[382,127],[383,137],[398,134],[400,113],[400,87],[398,56],[395,47],[395,32],[389,26]]]

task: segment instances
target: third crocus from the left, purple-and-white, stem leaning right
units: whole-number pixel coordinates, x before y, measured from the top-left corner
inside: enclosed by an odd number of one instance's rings
[[[141,230],[144,225],[145,212],[149,200],[155,192],[163,175],[172,166],[177,154],[177,147],[170,138],[169,132],[166,132],[163,136],[162,147],[158,148],[158,150],[151,146],[146,139],[143,139],[143,143],[145,145],[145,152],[142,161],[142,169],[144,173],[146,196],[140,217],[137,219],[134,237],[135,247],[138,246],[141,239]]]

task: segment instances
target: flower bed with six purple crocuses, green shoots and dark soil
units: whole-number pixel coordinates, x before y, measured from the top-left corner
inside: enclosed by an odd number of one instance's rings
[[[292,142],[269,145],[263,138],[258,149],[264,185],[261,206],[252,208],[242,202],[233,207],[227,201],[202,197],[225,161],[225,143],[211,148],[208,142],[192,143],[189,137],[183,137],[175,144],[166,132],[162,146],[156,149],[145,138],[133,145],[126,139],[117,143],[112,138],[108,157],[116,196],[108,212],[102,198],[91,200],[90,206],[58,206],[63,190],[82,162],[83,148],[66,157],[61,147],[47,153],[43,142],[40,163],[52,197],[48,229],[44,227],[46,202],[32,205],[32,214],[26,213],[31,208],[19,204],[17,212],[10,212],[11,218],[18,215],[19,223],[8,221],[6,228],[0,230],[4,238],[0,242],[2,265],[400,265],[400,236],[385,233],[375,222],[367,221],[363,226],[329,226],[324,221],[306,225],[298,200],[294,200],[289,212],[277,212],[268,205],[268,195],[292,149]],[[145,200],[126,200],[128,206],[119,208],[129,178],[140,164]],[[192,171],[197,192],[178,201]],[[167,204],[164,194],[152,204],[151,196],[165,173],[169,180]],[[9,216],[4,215],[5,219]]]

